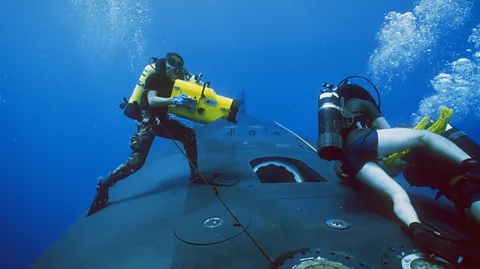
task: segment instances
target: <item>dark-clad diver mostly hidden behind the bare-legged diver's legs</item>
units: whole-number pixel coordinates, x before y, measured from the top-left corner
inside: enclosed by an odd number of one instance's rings
[[[430,131],[435,124],[441,123],[444,128],[434,131],[451,140],[472,158],[480,157],[480,146],[470,139],[464,132],[448,123],[448,119],[442,117],[442,113],[448,110],[441,109],[441,116],[436,123],[424,118],[416,128]],[[396,178],[403,173],[405,180],[412,187],[430,187],[438,190],[435,200],[445,195],[452,201],[462,217],[480,225],[480,174],[458,174],[455,165],[437,157],[428,148],[414,148],[400,154],[393,154],[377,161],[390,177]],[[335,171],[339,177],[348,177],[339,163],[335,165]]]

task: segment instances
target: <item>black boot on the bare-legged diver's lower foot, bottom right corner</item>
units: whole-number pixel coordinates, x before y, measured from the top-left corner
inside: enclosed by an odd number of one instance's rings
[[[455,267],[479,266],[478,268],[480,268],[478,245],[470,244],[469,246],[466,243],[447,238],[431,227],[418,222],[412,223],[409,231],[413,241],[423,251],[433,253]]]

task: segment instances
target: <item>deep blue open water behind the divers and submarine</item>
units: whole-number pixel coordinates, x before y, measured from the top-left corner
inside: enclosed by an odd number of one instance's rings
[[[135,125],[118,104],[149,57],[180,53],[217,93],[245,88],[248,114],[304,137],[321,83],[366,75],[393,125],[447,105],[480,141],[478,28],[473,0],[1,1],[1,268],[31,263],[126,160]]]

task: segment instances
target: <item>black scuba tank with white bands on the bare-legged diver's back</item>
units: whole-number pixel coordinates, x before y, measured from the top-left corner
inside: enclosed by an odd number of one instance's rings
[[[320,92],[318,98],[317,154],[320,158],[328,161],[342,160],[345,156],[341,134],[342,102],[333,85],[323,83],[322,86],[324,90]]]

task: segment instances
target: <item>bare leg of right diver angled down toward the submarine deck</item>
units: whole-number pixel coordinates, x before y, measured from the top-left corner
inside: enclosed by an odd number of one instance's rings
[[[408,194],[377,164],[373,162],[366,163],[357,173],[356,177],[371,188],[390,198],[393,202],[395,215],[397,215],[407,227],[413,222],[420,222]]]

